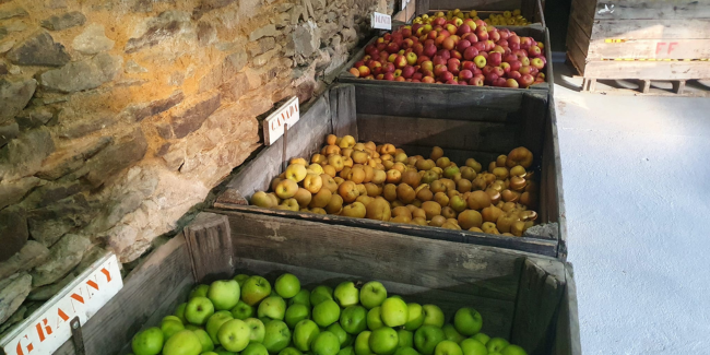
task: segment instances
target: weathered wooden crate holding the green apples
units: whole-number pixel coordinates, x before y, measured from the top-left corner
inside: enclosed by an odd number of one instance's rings
[[[338,236],[338,238],[333,238]],[[273,221],[265,215],[201,213],[147,256],[121,289],[82,326],[86,354],[128,354],[133,334],[158,326],[196,283],[235,273],[273,282],[283,272],[301,284],[381,281],[407,301],[437,304],[447,319],[460,307],[482,315],[482,331],[531,355],[581,355],[570,264],[553,258],[441,240]],[[70,355],[67,342],[56,354]]]

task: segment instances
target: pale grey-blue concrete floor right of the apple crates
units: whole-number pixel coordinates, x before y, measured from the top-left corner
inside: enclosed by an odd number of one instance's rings
[[[579,93],[555,71],[583,353],[710,354],[710,98]]]

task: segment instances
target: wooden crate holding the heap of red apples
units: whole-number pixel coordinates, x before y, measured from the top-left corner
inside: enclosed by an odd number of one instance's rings
[[[530,90],[536,90],[536,91],[544,91],[544,92],[553,92],[555,85],[551,85],[551,81],[553,80],[554,74],[553,74],[553,55],[551,51],[551,45],[549,45],[549,31],[547,27],[543,27],[540,24],[533,24],[530,26],[497,26],[499,28],[508,28],[512,32],[516,32],[519,36],[523,37],[532,37],[536,42],[542,42],[545,44],[545,58],[547,59],[547,66],[543,69],[545,72],[545,78],[547,82],[535,84],[530,86]],[[377,37],[371,38],[367,45],[370,45],[377,40]],[[352,84],[374,84],[374,85],[400,85],[400,84],[405,84],[405,85],[416,85],[416,86],[422,86],[422,87],[439,87],[439,86],[451,86],[451,85],[442,85],[442,84],[427,84],[427,83],[409,83],[409,82],[394,82],[394,81],[387,81],[387,80],[369,80],[369,79],[363,79],[363,78],[357,78],[353,75],[350,72],[350,69],[353,68],[356,61],[360,60],[363,57],[365,57],[365,47],[363,46],[360,50],[355,52],[355,55],[351,58],[351,60],[344,66],[343,71],[338,75],[338,81],[341,83],[352,83]],[[496,86],[472,86],[472,85],[461,85],[461,87],[469,90],[469,91],[524,91],[524,88],[510,88],[510,87],[496,87]]]

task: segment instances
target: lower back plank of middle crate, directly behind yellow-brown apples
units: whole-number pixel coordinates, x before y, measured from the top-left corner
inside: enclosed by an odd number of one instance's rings
[[[357,127],[365,141],[376,143],[486,152],[509,152],[520,134],[511,123],[365,114],[357,115]]]

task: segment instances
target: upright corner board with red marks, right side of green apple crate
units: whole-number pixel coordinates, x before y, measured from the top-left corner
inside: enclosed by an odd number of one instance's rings
[[[531,355],[549,354],[554,342],[555,316],[564,292],[564,274],[560,280],[525,260],[510,342],[522,346]]]

